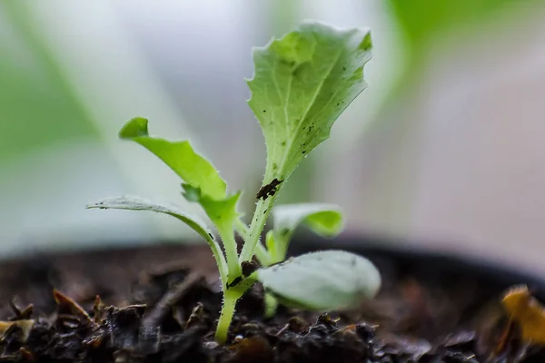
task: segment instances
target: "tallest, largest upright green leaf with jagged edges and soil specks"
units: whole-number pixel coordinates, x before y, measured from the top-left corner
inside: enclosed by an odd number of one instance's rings
[[[254,49],[248,103],[267,145],[263,185],[285,180],[329,138],[332,124],[366,87],[363,65],[371,49],[369,31],[317,23]]]

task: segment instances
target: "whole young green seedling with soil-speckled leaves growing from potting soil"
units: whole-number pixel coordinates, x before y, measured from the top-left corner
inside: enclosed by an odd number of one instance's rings
[[[237,210],[241,192],[228,192],[213,165],[194,152],[190,142],[150,136],[144,118],[134,118],[119,132],[121,139],[141,144],[180,176],[183,197],[201,205],[219,239],[206,222],[174,204],[123,196],[88,208],[169,214],[206,240],[223,288],[223,309],[215,333],[219,343],[227,339],[237,300],[256,281],[267,291],[269,313],[274,311],[276,300],[304,309],[348,308],[372,298],[379,289],[381,277],[372,263],[349,252],[326,250],[285,260],[299,224],[305,223],[326,236],[341,231],[339,208],[326,204],[272,208],[295,167],[329,138],[332,124],[366,87],[363,66],[371,51],[369,31],[343,31],[316,23],[302,25],[253,50],[255,69],[248,81],[252,91],[248,103],[263,129],[267,163],[250,226],[244,224]],[[260,236],[271,212],[275,224],[263,245]],[[240,253],[235,233],[243,239]],[[259,268],[253,264],[254,257],[260,262]]]

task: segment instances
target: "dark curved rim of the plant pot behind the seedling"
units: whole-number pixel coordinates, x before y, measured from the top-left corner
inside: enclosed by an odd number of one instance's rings
[[[145,242],[140,247],[112,248],[109,250],[81,250],[65,253],[35,253],[25,258],[6,260],[0,270],[0,299],[8,296],[10,287],[15,290],[25,289],[25,285],[35,280],[47,280],[54,287],[59,283],[59,270],[75,270],[71,279],[92,281],[104,278],[110,268],[123,267],[127,273],[152,268],[166,261],[183,260],[191,265],[190,253],[209,258],[207,271],[213,273],[215,267],[206,245],[183,245],[169,241],[150,244]],[[530,275],[500,266],[491,260],[450,253],[421,250],[411,247],[411,242],[392,240],[381,236],[342,236],[335,240],[324,240],[314,236],[298,236],[292,241],[289,254],[299,255],[313,250],[348,250],[372,260],[383,275],[390,279],[425,280],[437,285],[459,284],[471,281],[477,286],[482,296],[497,296],[502,290],[516,284],[527,284],[538,299],[545,300],[545,280],[540,276]],[[7,288],[7,289],[6,289]]]

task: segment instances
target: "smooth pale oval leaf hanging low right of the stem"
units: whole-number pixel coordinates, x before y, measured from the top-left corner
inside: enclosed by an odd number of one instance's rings
[[[285,305],[322,311],[352,308],[381,288],[370,260],[342,250],[312,252],[260,269],[257,280]]]

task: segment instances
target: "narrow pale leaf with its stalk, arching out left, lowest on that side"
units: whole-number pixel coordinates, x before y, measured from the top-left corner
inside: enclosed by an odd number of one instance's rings
[[[120,197],[107,198],[102,201],[88,204],[86,208],[96,208],[102,210],[154,211],[157,213],[168,214],[180,221],[183,221],[183,223],[191,227],[193,231],[199,233],[199,235],[201,235],[203,239],[208,242],[213,250],[213,255],[218,263],[220,273],[222,275],[225,274],[225,277],[223,277],[222,280],[225,280],[227,265],[225,263],[222,251],[220,250],[217,242],[213,239],[212,231],[206,227],[206,224],[198,216],[183,211],[181,207],[173,203],[149,201],[137,196],[124,195]]]

